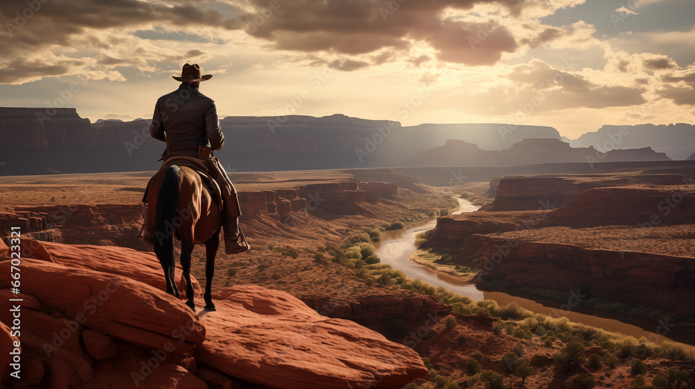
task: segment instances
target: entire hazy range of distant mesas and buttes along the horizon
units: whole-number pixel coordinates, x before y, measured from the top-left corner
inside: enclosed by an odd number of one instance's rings
[[[156,170],[165,144],[150,138],[149,122],[92,124],[75,108],[0,108],[0,175]],[[545,126],[520,125],[500,136],[500,127],[505,127],[500,124],[402,126],[340,114],[224,117],[220,126],[227,143],[215,156],[229,172],[524,165],[587,162],[587,158],[596,163],[655,161],[671,159],[667,154],[672,150],[666,146],[665,151],[649,149],[648,144],[633,142],[603,154],[603,148],[594,144],[573,142],[575,149],[569,149],[555,129]],[[691,127],[679,124],[678,131],[692,134]],[[679,147],[692,148],[689,142],[682,140]],[[676,159],[686,157],[679,153]]]

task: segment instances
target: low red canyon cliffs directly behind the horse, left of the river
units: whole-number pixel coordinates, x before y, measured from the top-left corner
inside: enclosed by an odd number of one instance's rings
[[[302,185],[296,189],[239,192],[242,217],[264,215],[284,224],[295,213],[369,215],[368,203],[398,194],[384,182],[340,182]],[[145,249],[138,240],[146,208],[142,204],[70,204],[20,206],[0,211],[0,237],[19,226],[24,238],[72,245],[108,245]]]

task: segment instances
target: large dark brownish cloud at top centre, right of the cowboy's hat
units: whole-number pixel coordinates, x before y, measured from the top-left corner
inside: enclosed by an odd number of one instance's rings
[[[389,0],[297,0],[280,3],[267,17],[254,19],[268,6],[266,0],[250,0],[253,12],[239,19],[250,35],[268,41],[274,49],[360,56],[381,49],[407,52],[416,42],[436,50],[436,58],[464,65],[493,65],[502,53],[518,48],[506,26],[489,20],[462,21],[461,12],[478,4],[488,5],[490,15],[524,8],[498,0],[389,1]],[[577,3],[569,1],[567,3]],[[532,2],[533,6],[539,3]],[[255,20],[255,22],[254,22]],[[535,44],[557,35],[550,28]],[[355,58],[353,58],[355,59]]]

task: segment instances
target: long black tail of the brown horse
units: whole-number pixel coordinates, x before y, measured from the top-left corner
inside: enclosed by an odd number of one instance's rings
[[[171,165],[167,169],[162,188],[157,197],[157,209],[154,221],[154,252],[164,268],[174,266],[174,216],[179,204],[179,182],[181,168]],[[165,263],[165,261],[167,263]]]

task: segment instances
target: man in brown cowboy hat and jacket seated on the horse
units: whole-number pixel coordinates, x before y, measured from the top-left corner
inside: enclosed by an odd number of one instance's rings
[[[199,92],[202,81],[212,78],[211,74],[201,76],[197,64],[183,65],[181,76],[172,76],[181,81],[179,89],[165,94],[157,100],[154,117],[149,127],[152,138],[166,142],[163,160],[176,156],[199,158],[204,161],[210,176],[215,180],[222,195],[222,230],[224,249],[227,254],[240,253],[250,249],[250,245],[239,229],[241,210],[236,189],[229,180],[213,149],[222,149],[224,135],[220,127],[215,102]],[[145,213],[145,224],[141,240],[154,244],[154,222]]]

